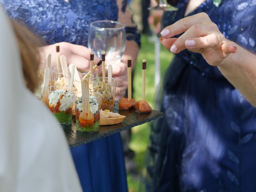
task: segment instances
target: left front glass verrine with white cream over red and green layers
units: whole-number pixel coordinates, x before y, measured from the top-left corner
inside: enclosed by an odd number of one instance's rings
[[[74,104],[74,88],[57,85],[47,88],[48,108],[58,119],[60,124],[68,125],[72,122],[72,106]]]

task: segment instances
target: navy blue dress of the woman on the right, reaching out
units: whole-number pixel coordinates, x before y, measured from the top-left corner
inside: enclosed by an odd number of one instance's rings
[[[163,26],[184,17],[188,0],[166,12]],[[256,0],[206,0],[226,38],[256,52]],[[164,79],[164,119],[152,126],[148,191],[255,192],[256,109],[200,54],[174,57]]]

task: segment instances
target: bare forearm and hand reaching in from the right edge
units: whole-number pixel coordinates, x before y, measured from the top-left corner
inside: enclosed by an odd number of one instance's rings
[[[173,38],[178,34],[182,35]],[[164,28],[161,35],[160,42],[174,54],[184,49],[201,53],[256,106],[256,56],[226,39],[206,13],[183,18]]]

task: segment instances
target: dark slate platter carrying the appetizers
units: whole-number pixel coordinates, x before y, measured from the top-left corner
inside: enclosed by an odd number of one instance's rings
[[[155,110],[152,110],[152,112],[146,114],[139,114],[135,112],[134,109],[119,110],[117,102],[115,104],[114,112],[125,115],[126,118],[124,119],[124,121],[116,125],[100,126],[99,131],[94,133],[76,131],[75,118],[73,117],[71,125],[63,126],[70,148],[74,148],[82,144],[86,144],[94,140],[110,136],[112,134],[124,131],[126,129],[130,129],[132,127],[156,120],[164,116],[162,112]]]

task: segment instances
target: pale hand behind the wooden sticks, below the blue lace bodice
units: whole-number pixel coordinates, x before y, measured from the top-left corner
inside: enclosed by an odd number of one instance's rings
[[[65,55],[68,65],[73,63],[78,70],[88,72],[90,70],[90,49],[85,46],[75,45],[67,42],[60,42],[60,56]],[[40,48],[41,60],[46,63],[48,54],[52,54],[52,65],[57,67],[56,46],[55,44]],[[94,56],[94,64],[100,59]]]

